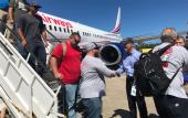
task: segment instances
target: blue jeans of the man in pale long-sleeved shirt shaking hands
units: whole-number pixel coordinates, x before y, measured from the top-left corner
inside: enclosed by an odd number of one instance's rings
[[[101,97],[83,98],[82,100],[83,105],[85,106],[84,118],[101,118],[102,114]]]

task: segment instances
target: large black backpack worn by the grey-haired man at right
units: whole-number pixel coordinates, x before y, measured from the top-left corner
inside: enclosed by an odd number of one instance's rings
[[[143,96],[155,96],[165,94],[169,84],[177,75],[178,71],[170,78],[167,77],[163,68],[163,61],[160,56],[170,47],[167,45],[164,49],[153,53],[144,53],[140,55],[139,61],[134,65],[134,77],[136,88]]]

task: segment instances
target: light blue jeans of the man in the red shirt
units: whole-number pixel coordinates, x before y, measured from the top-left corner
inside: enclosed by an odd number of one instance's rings
[[[65,99],[67,105],[67,116],[69,118],[76,118],[75,112],[75,98],[76,98],[77,84],[65,85]]]

